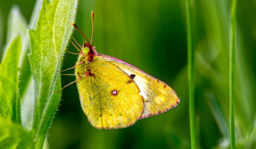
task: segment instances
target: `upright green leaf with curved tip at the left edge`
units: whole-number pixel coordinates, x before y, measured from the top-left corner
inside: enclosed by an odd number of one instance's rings
[[[15,37],[9,44],[0,65],[0,115],[20,123],[20,99],[18,96],[18,63],[21,38]]]

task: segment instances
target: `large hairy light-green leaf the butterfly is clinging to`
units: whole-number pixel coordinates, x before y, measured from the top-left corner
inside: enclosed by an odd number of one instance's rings
[[[36,148],[42,148],[61,93],[60,67],[72,33],[77,0],[44,0],[35,30],[29,31],[32,74],[35,79],[33,131]]]

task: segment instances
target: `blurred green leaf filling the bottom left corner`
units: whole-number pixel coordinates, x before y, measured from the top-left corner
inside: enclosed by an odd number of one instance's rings
[[[0,148],[1,149],[32,149],[32,134],[20,125],[0,117]]]

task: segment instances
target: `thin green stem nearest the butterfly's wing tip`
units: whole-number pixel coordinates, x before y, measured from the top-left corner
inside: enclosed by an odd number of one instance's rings
[[[194,109],[194,49],[192,0],[186,1],[187,46],[188,46],[188,87],[189,87],[189,126],[191,149],[195,149],[195,109]]]

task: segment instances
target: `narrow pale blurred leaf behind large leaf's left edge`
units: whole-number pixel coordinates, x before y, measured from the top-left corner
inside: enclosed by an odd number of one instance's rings
[[[35,29],[38,15],[41,10],[43,0],[37,0],[33,9],[29,28]],[[28,130],[32,129],[33,112],[34,112],[34,79],[31,77],[31,69],[29,63],[29,29],[22,40],[22,50],[20,55],[20,75],[19,75],[19,91],[20,91],[20,109],[22,126]]]

